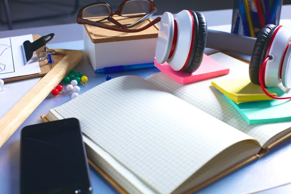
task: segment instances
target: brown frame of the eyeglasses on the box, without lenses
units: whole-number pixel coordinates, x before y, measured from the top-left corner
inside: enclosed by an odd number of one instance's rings
[[[138,21],[134,22],[133,24],[123,25],[123,24],[119,23],[118,21],[116,21],[112,16],[114,16],[114,15],[122,16],[121,15],[121,11],[123,9],[124,4],[126,2],[128,2],[128,1],[131,1],[131,0],[124,0],[119,5],[119,7],[118,7],[116,12],[113,12],[111,6],[108,3],[104,3],[104,2],[92,3],[92,4],[89,4],[89,5],[86,5],[86,6],[82,7],[79,10],[79,13],[78,13],[78,16],[77,16],[77,23],[78,24],[87,24],[87,25],[91,25],[91,26],[95,26],[95,27],[99,27],[99,28],[104,28],[104,29],[108,29],[108,30],[113,30],[113,31],[119,31],[119,32],[141,32],[141,31],[144,31],[147,28],[155,25],[156,23],[158,23],[161,20],[161,17],[157,17],[153,21],[151,21],[149,24],[147,24],[146,26],[144,26],[142,28],[129,29],[129,28],[132,28],[132,27],[136,26],[141,21],[146,20],[147,18],[149,18],[153,14],[155,14],[156,11],[157,11],[157,8],[156,8],[155,3],[154,3],[153,0],[146,0],[146,1],[149,2],[149,11],[148,11],[148,13],[146,15],[135,15],[135,16],[132,16],[132,17],[141,17],[142,16],[142,18],[140,18]],[[108,16],[108,17],[106,17],[104,19],[98,20],[98,21],[91,21],[91,20],[82,18],[82,14],[83,14],[84,9],[86,9],[86,8],[88,8],[90,6],[93,6],[93,5],[98,5],[98,4],[103,4],[103,5],[108,6],[108,8],[110,9],[110,12],[111,12],[110,16]],[[126,16],[126,17],[130,17],[130,16]],[[99,23],[100,21],[103,21],[105,19],[107,19],[108,21],[112,22],[113,24],[115,24],[118,27],[110,26],[110,25],[107,25],[107,24],[104,24],[104,23]]]

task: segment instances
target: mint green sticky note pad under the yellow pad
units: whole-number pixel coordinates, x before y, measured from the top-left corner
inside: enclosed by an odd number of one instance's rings
[[[268,88],[279,97],[287,97],[280,88]],[[250,125],[261,123],[272,123],[279,121],[291,121],[291,100],[275,99],[235,103],[224,95],[230,104],[242,115],[244,120]]]

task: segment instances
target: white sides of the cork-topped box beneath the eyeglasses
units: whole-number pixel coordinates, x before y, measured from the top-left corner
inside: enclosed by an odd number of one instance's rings
[[[153,63],[158,38],[96,43],[83,27],[84,53],[94,70],[109,66]]]

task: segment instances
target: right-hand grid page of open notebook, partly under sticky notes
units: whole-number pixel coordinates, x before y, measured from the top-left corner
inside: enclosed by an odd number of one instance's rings
[[[210,55],[210,57],[228,67],[230,69],[229,74],[187,85],[171,80],[163,73],[149,76],[146,80],[153,82],[167,92],[252,136],[259,141],[261,146],[277,133],[291,127],[291,122],[248,125],[223,94],[211,85],[213,80],[249,78],[248,64],[223,53],[215,53]]]

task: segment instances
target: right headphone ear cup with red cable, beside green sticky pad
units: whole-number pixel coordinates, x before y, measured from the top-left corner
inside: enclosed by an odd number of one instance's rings
[[[291,88],[291,33],[281,25],[266,25],[261,29],[249,65],[250,80],[259,84],[264,93],[275,99],[291,97],[274,97],[265,88],[282,85]]]

